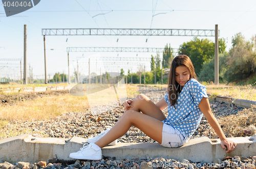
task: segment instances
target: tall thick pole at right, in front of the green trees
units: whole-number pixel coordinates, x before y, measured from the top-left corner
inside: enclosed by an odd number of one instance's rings
[[[215,25],[215,76],[214,76],[214,84],[219,85],[219,32],[218,32],[218,24]]]

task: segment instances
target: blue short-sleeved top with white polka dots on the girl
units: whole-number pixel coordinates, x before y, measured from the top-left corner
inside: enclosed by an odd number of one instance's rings
[[[186,82],[181,90],[178,100],[174,106],[170,106],[168,93],[164,95],[164,100],[168,104],[168,117],[162,122],[183,131],[191,137],[197,130],[203,117],[198,105],[202,98],[208,98],[206,87],[201,85],[195,78]]]

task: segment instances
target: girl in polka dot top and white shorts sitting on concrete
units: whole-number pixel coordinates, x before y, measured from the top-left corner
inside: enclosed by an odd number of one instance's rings
[[[162,110],[168,107],[166,118]],[[168,89],[164,98],[153,103],[148,97],[139,94],[133,100],[124,102],[124,113],[116,124],[96,137],[88,138],[80,151],[71,153],[75,159],[99,160],[101,148],[115,145],[131,126],[139,128],[146,135],[168,148],[180,147],[198,128],[203,117],[216,131],[221,147],[231,152],[236,143],[228,140],[211,112],[205,86],[197,80],[194,66],[187,55],[177,55],[169,72]],[[142,113],[141,113],[141,112]]]

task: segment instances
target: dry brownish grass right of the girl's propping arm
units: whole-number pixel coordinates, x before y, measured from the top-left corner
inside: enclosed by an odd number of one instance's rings
[[[253,135],[256,130],[256,108],[253,106],[252,108],[243,109],[236,115],[221,117],[217,120],[227,137]],[[212,128],[210,128],[210,131],[208,132],[212,132],[214,135],[217,135]]]

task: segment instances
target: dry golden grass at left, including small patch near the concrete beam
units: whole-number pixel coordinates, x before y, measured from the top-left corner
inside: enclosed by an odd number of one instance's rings
[[[18,124],[9,126],[9,122],[24,123],[26,121],[33,122],[45,121],[55,118],[68,111],[85,111],[89,108],[87,97],[76,97],[70,94],[62,96],[49,96],[29,101],[19,101],[14,105],[0,106],[0,137],[4,138],[8,135],[16,136],[22,133],[36,133],[32,128],[19,128]],[[6,130],[6,128],[9,128]]]

